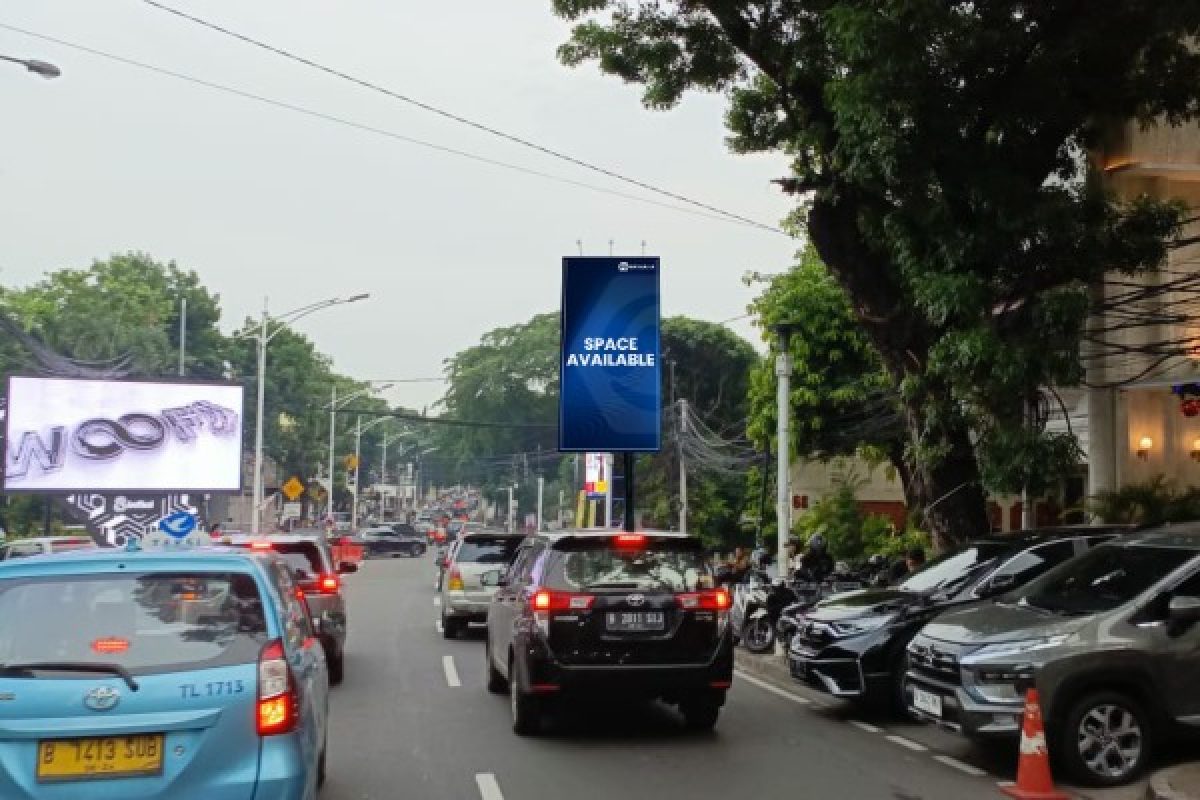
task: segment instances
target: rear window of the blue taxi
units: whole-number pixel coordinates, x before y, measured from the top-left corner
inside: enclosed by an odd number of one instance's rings
[[[246,573],[121,573],[0,582],[0,663],[86,661],[134,674],[257,661],[266,618]]]

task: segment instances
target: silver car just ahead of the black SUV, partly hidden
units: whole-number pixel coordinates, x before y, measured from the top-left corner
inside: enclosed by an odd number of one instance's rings
[[[485,572],[503,570],[512,560],[522,534],[469,531],[446,555],[442,581],[442,634],[452,639],[470,622],[487,621],[487,606],[496,587],[485,587]]]

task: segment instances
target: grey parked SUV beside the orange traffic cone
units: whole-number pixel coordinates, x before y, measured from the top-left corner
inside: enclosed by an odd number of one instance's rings
[[[1200,726],[1200,524],[1124,536],[938,618],[908,658],[917,716],[1013,738],[1036,686],[1050,754],[1081,783],[1128,783]]]

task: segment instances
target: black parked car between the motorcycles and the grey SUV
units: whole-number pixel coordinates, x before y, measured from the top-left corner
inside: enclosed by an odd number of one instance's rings
[[[949,608],[1024,585],[1124,528],[1056,528],[989,536],[887,589],[835,595],[797,620],[792,676],[846,699],[906,708],[905,649]]]

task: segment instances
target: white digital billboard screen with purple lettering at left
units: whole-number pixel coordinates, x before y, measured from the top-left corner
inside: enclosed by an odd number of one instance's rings
[[[5,492],[238,492],[242,387],[8,379]]]

